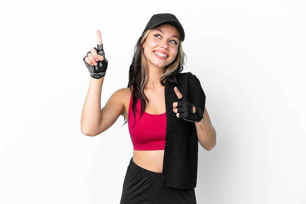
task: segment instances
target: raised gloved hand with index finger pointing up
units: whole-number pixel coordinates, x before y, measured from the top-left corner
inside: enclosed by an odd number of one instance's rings
[[[108,68],[108,61],[105,58],[100,30],[97,30],[97,48],[91,48],[87,53],[87,56],[83,58],[83,61],[85,62],[91,77],[100,79],[105,76]]]

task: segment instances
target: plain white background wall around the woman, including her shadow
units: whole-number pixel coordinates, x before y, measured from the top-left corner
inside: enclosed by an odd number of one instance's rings
[[[0,203],[118,204],[132,145],[123,118],[80,131],[100,29],[102,104],[127,86],[155,13],[182,23],[217,130],[199,150],[199,204],[306,204],[305,0],[1,0]]]

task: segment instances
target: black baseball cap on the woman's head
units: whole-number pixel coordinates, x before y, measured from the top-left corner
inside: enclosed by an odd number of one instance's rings
[[[185,32],[184,29],[182,27],[182,25],[180,24],[180,22],[177,20],[177,18],[175,17],[175,15],[173,14],[155,14],[151,17],[151,19],[149,20],[145,30],[143,32],[145,32],[148,29],[152,29],[155,28],[156,26],[163,24],[163,23],[168,23],[171,24],[173,26],[176,27],[176,29],[179,32],[179,35],[181,36],[181,40],[184,41],[185,39]]]

